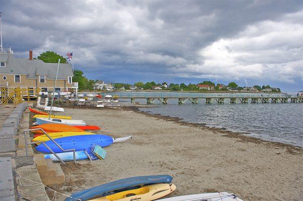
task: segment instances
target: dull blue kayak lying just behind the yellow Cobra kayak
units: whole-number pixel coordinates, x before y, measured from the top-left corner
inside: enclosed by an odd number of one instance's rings
[[[97,197],[107,196],[109,194],[139,188],[144,185],[157,183],[171,183],[173,177],[170,175],[156,175],[156,176],[139,176],[120,179],[106,184],[88,188],[78,191],[66,198],[65,201],[76,201],[78,199],[85,201]]]

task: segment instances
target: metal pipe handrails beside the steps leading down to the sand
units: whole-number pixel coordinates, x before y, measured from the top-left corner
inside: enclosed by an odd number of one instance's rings
[[[77,166],[76,164],[76,149],[68,149],[68,150],[65,150],[63,149],[51,136],[48,135],[47,132],[45,132],[45,130],[43,130],[42,128],[33,128],[33,129],[26,129],[24,130],[24,141],[25,141],[25,153],[26,153],[26,158],[28,157],[28,147],[27,145],[33,145],[33,144],[36,144],[36,143],[42,143],[50,152],[52,152],[52,154],[54,154],[54,156],[56,156],[58,158],[58,160],[62,163],[62,164],[65,164],[65,162],[60,158],[60,156],[58,156],[50,147],[48,147],[45,142],[43,141],[40,141],[40,142],[27,142],[27,138],[26,138],[26,132],[29,132],[29,131],[33,131],[33,130],[41,130],[45,136],[47,136],[47,138],[49,138],[49,140],[53,141],[53,143],[55,143],[55,145],[57,145],[57,147],[59,147],[59,149],[62,150],[62,152],[73,152],[73,156],[74,156],[74,163],[75,165]]]

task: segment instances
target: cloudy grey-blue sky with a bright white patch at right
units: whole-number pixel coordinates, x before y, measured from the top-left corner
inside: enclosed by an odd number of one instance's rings
[[[74,52],[89,79],[303,90],[303,1],[1,1],[16,57]]]

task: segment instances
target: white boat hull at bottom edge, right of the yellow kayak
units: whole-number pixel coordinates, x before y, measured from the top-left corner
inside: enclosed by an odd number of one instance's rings
[[[164,199],[158,199],[159,201],[243,201],[233,193],[228,192],[212,192],[212,193],[201,193],[192,195],[182,195],[177,197],[169,197]]]

